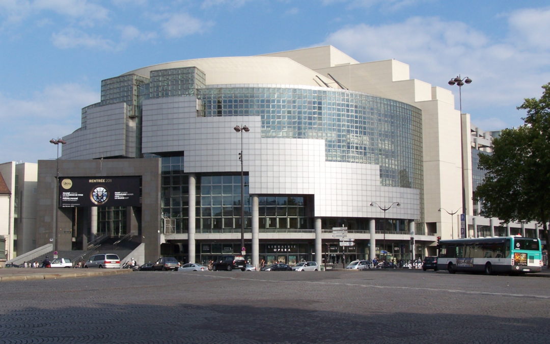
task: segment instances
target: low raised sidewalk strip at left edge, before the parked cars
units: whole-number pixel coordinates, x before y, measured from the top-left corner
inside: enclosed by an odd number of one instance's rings
[[[0,282],[9,281],[36,281],[56,280],[75,277],[93,277],[105,275],[127,274],[131,269],[62,269],[54,268],[30,268],[7,267],[0,269]]]

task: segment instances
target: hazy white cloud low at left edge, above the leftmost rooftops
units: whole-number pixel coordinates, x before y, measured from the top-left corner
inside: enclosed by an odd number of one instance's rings
[[[35,92],[30,99],[0,94],[3,124],[0,162],[56,157],[48,141],[80,127],[81,108],[97,102],[100,95],[79,84],[52,85]]]

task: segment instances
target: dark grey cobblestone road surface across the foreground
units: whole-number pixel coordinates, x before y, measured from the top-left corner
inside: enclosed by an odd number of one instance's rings
[[[548,342],[550,279],[131,272],[0,283],[0,343]]]

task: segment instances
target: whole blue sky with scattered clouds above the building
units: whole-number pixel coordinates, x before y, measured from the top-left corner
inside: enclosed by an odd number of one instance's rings
[[[395,58],[452,90],[484,130],[517,127],[550,82],[541,1],[0,0],[0,163],[55,159],[101,80],[147,65],[333,45],[359,62]]]

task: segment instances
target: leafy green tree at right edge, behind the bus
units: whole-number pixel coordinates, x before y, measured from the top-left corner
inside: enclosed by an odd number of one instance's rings
[[[504,129],[493,140],[493,154],[480,154],[485,170],[474,200],[481,201],[481,215],[502,223],[536,221],[550,244],[550,83],[540,99],[525,99],[518,107],[527,111],[524,124]],[[549,262],[550,266],[550,262]]]

